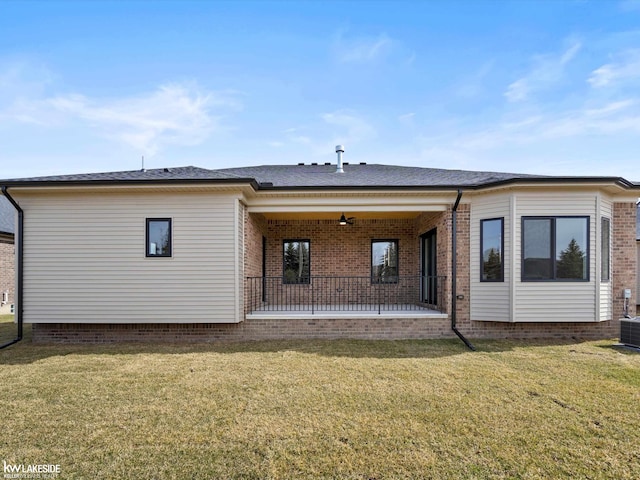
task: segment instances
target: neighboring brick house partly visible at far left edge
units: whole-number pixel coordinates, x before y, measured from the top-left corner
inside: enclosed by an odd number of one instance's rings
[[[0,195],[0,314],[11,311],[15,295],[15,222],[13,205]]]

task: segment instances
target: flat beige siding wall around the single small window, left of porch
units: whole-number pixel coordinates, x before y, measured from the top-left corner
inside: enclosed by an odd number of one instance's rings
[[[237,196],[114,189],[22,194],[19,203],[26,322],[240,320]],[[172,220],[171,257],[145,257],[153,217]]]

